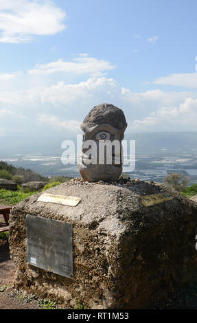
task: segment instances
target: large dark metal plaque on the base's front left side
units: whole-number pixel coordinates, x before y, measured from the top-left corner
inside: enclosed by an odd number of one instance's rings
[[[73,278],[72,225],[26,215],[27,263]]]

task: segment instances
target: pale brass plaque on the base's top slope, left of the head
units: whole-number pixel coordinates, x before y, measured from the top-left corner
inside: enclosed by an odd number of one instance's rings
[[[80,197],[67,197],[65,195],[43,193],[38,202],[57,203],[62,205],[76,206],[81,201]]]

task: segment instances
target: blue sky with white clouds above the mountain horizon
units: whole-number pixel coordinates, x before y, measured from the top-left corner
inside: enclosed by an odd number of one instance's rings
[[[74,135],[102,102],[127,133],[197,131],[197,1],[0,0],[0,135]]]

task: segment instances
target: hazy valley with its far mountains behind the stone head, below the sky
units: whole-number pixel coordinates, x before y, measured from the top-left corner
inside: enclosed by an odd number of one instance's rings
[[[76,138],[62,137],[0,137],[0,160],[43,176],[77,177],[77,164],[64,165],[60,159],[66,139],[76,142]],[[197,183],[197,132],[132,133],[124,139],[135,140],[136,146],[135,170],[124,167],[130,177],[161,182],[167,173],[176,171]]]

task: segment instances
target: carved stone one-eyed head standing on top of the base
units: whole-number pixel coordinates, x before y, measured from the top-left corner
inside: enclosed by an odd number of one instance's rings
[[[122,172],[121,140],[126,120],[112,104],[94,107],[81,124],[80,175],[84,181],[116,181]]]

